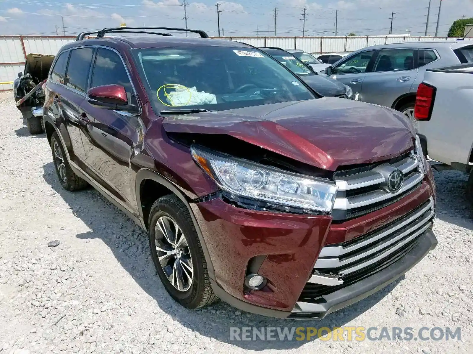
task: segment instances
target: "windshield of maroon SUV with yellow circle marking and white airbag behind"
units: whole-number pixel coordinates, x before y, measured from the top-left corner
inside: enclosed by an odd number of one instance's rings
[[[132,52],[157,113],[315,98],[296,76],[256,49],[193,46]]]

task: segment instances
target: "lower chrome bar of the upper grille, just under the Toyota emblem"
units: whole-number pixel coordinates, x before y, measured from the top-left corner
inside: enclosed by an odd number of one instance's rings
[[[396,193],[388,193],[381,189],[368,192],[365,194],[354,195],[351,197],[340,197],[335,199],[333,209],[347,210],[359,208],[365,205],[382,202],[386,199],[394,198],[396,195],[403,194],[424,179],[424,175],[420,172],[412,173],[404,180],[404,184]]]

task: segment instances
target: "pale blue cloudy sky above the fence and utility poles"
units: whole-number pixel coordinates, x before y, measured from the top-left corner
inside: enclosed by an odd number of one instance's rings
[[[81,31],[120,26],[185,27],[183,0],[0,0],[0,35],[76,35]],[[216,0],[186,0],[188,28],[218,35]],[[429,0],[235,0],[219,1],[220,31],[226,36],[334,34],[338,10],[338,35],[424,35]],[[431,0],[428,34],[434,35],[440,0]],[[439,36],[452,22],[473,17],[473,0],[442,0]]]

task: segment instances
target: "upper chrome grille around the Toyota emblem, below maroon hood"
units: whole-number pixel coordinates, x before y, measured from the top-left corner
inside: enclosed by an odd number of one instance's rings
[[[412,192],[424,178],[419,160],[413,152],[403,160],[382,166],[400,169],[403,172],[404,182],[397,192],[390,193],[381,188],[385,183],[385,177],[377,169],[341,177],[335,174],[333,180],[338,186],[338,193],[333,205],[334,220],[350,219],[381,209]],[[366,212],[363,212],[364,210]]]

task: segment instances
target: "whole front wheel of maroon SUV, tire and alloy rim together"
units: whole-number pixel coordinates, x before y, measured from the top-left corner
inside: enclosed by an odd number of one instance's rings
[[[181,232],[176,232],[175,225]],[[188,309],[202,308],[218,301],[210,285],[207,262],[191,215],[176,195],[169,194],[154,202],[149,213],[148,230],[153,262],[169,295]],[[168,231],[167,236],[163,230]],[[158,259],[160,256],[163,265]]]

